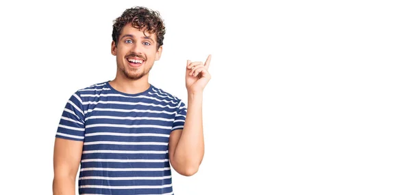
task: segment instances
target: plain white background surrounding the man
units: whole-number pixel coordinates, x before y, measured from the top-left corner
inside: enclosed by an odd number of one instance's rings
[[[114,78],[134,5],[166,23],[156,87],[186,100],[186,60],[212,54],[206,154],[176,195],[411,194],[407,1],[216,2],[2,1],[0,194],[52,194],[64,105]]]

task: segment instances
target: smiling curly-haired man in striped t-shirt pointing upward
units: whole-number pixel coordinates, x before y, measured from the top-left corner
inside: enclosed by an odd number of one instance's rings
[[[211,56],[205,63],[187,61],[186,106],[148,81],[164,34],[160,14],[146,7],[116,18],[116,77],[76,91],[67,102],[55,135],[53,194],[75,194],[79,165],[79,194],[173,194],[171,167],[185,176],[197,172]]]

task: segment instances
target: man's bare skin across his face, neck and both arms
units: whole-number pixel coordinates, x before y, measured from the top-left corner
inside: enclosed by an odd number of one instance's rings
[[[147,35],[147,36],[145,36]],[[119,42],[112,42],[111,52],[116,56],[117,71],[110,85],[123,93],[140,93],[149,89],[149,71],[162,54],[155,34],[126,25]],[[129,65],[127,58],[142,59],[140,67]],[[198,170],[204,155],[203,90],[211,76],[208,72],[211,55],[206,62],[187,61],[186,89],[188,95],[186,123],[183,130],[174,130],[169,138],[169,158],[173,169],[191,176]],[[83,142],[55,138],[53,194],[75,194],[75,179],[82,157]]]

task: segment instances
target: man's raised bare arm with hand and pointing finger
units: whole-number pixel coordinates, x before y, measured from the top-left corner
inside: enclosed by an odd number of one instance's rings
[[[203,89],[211,76],[208,72],[211,55],[206,63],[187,61],[187,113],[182,130],[173,130],[169,140],[169,159],[174,170],[191,176],[198,170],[204,156]]]

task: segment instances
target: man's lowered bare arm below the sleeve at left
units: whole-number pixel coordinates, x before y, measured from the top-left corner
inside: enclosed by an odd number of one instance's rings
[[[53,195],[75,195],[75,180],[82,149],[82,141],[55,138]]]

